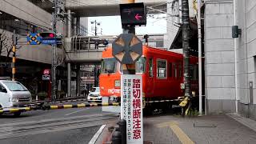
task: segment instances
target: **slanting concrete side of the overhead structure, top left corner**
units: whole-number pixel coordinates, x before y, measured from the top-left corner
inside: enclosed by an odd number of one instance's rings
[[[0,10],[37,26],[50,28],[51,14],[27,0],[0,1]]]

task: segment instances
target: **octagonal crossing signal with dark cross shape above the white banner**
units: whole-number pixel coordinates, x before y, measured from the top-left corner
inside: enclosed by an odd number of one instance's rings
[[[134,34],[120,34],[112,47],[112,55],[122,64],[133,64],[142,56],[142,41]]]

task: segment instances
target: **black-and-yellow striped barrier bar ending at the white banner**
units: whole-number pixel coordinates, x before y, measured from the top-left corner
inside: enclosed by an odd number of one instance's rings
[[[120,106],[120,103],[82,103],[76,105],[52,105],[42,106],[42,110],[54,110],[54,109],[70,109],[70,108],[81,108],[81,107],[92,107],[92,106]]]

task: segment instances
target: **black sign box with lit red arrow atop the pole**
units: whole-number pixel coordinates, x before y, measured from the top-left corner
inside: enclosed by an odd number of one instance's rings
[[[122,27],[146,25],[146,6],[143,2],[120,4]]]

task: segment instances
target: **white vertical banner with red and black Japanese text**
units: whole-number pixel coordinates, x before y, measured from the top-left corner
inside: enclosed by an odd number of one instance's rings
[[[127,144],[143,143],[141,74],[121,76],[121,118],[126,119]]]

